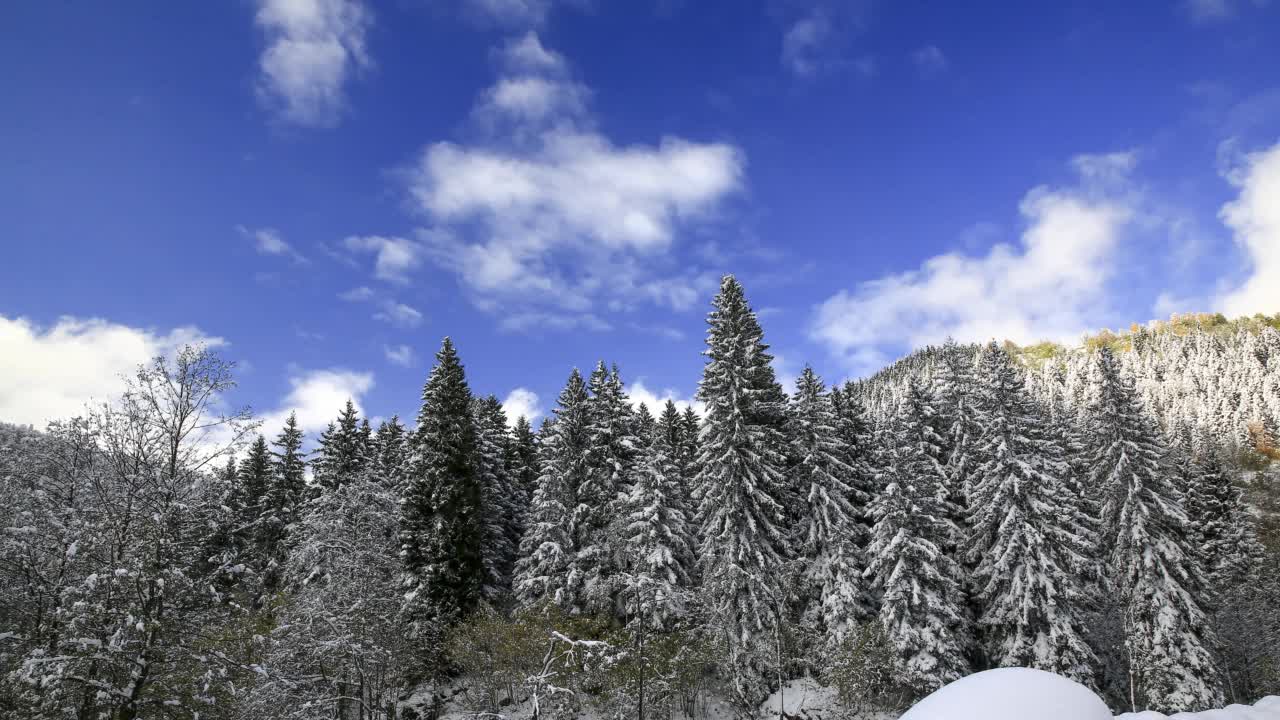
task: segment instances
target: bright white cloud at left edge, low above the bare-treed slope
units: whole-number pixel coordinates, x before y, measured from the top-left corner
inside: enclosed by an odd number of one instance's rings
[[[42,328],[0,315],[0,420],[44,427],[113,400],[123,375],[187,343],[225,342],[197,328],[156,333],[102,319],[61,318]]]

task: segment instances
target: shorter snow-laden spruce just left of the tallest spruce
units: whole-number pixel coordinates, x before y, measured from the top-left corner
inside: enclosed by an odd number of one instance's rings
[[[694,536],[684,486],[663,442],[646,445],[618,507],[621,602],[627,619],[669,629],[692,584]]]

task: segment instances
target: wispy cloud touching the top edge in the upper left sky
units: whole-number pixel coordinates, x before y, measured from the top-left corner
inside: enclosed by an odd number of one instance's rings
[[[333,127],[346,110],[348,76],[371,67],[365,33],[372,13],[360,0],[259,0],[266,36],[259,97],[284,122]]]

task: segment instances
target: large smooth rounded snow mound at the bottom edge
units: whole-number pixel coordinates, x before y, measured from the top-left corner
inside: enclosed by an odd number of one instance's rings
[[[1111,710],[1093,691],[1061,675],[1000,667],[946,685],[901,720],[1111,720]]]

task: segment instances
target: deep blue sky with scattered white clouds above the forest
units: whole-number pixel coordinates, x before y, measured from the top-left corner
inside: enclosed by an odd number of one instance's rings
[[[13,5],[0,418],[192,338],[269,424],[412,415],[444,334],[689,398],[726,272],[785,378],[1276,313],[1277,67],[1261,0]]]

